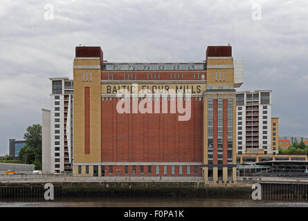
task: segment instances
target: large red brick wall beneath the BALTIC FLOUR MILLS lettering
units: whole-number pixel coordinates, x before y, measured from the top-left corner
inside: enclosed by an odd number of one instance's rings
[[[168,113],[119,114],[117,102],[108,97],[101,104],[102,162],[202,162],[199,97],[191,99],[189,121],[179,121],[179,113],[170,113],[170,105]]]

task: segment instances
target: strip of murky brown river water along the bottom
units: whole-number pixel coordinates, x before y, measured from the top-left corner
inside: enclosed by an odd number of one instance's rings
[[[308,207],[308,202],[209,198],[66,198],[1,200],[0,207]]]

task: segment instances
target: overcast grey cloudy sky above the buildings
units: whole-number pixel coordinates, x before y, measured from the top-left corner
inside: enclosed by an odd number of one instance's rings
[[[251,15],[262,7],[262,20]],[[52,4],[54,19],[44,19]],[[49,77],[73,77],[75,46],[108,61],[202,61],[206,46],[244,61],[239,90],[271,89],[279,135],[308,135],[308,1],[0,0],[0,155],[50,108]]]

